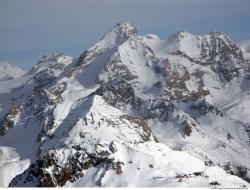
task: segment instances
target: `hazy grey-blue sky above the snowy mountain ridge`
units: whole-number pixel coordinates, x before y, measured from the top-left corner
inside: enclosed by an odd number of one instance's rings
[[[42,55],[77,57],[113,25],[141,34],[222,31],[250,39],[250,0],[0,0],[0,60],[30,69]]]

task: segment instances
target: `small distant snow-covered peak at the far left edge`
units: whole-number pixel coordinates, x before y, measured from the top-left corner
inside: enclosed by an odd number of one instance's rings
[[[25,71],[7,62],[0,62],[0,81],[19,78]]]

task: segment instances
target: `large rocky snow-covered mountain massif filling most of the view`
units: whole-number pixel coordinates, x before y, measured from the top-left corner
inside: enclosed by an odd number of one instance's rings
[[[220,32],[117,24],[0,81],[0,186],[249,187],[250,62]]]

